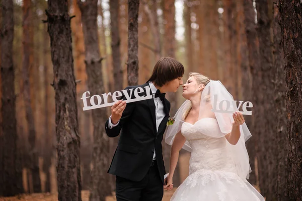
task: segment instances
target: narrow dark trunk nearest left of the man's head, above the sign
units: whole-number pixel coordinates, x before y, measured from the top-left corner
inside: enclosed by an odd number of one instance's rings
[[[138,84],[138,10],[139,0],[128,0],[128,85]]]

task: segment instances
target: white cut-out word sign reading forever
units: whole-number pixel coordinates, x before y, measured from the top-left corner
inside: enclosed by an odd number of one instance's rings
[[[145,88],[145,91],[148,92],[150,91],[150,87],[149,86],[146,86],[144,87]],[[130,93],[128,93],[128,91]],[[108,106],[112,106],[115,102],[117,102],[117,98],[118,97],[121,97],[121,96],[125,96],[126,98],[126,103],[131,103],[131,102],[136,102],[136,101],[141,101],[141,100],[147,100],[147,99],[152,99],[152,95],[146,95],[146,96],[139,96],[138,94],[139,93],[142,93],[144,90],[143,88],[141,87],[137,87],[134,89],[134,92],[133,92],[133,89],[128,89],[128,90],[122,90],[122,91],[115,91],[112,93],[111,95],[111,92],[109,92],[108,94],[102,94],[102,97],[100,95],[93,95],[92,97],[90,96],[86,96],[87,94],[90,95],[90,92],[87,91],[87,92],[84,92],[83,95],[82,95],[82,100],[83,100],[83,104],[84,104],[84,107],[83,107],[83,110],[91,110],[91,109],[97,109],[97,108],[101,108],[101,107],[108,107]],[[132,94],[134,95],[135,98],[131,98],[132,97]],[[112,97],[112,100],[113,102],[112,103],[108,103],[108,96],[111,96]],[[92,106],[88,106],[87,105],[87,98],[90,98],[90,104]],[[97,103],[95,102],[95,98],[97,98]]]

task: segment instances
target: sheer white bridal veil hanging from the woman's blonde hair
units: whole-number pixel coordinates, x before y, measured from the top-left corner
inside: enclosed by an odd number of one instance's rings
[[[238,110],[237,107],[233,105],[233,96],[225,89],[220,81],[210,81],[202,91],[199,118],[204,118],[208,116],[209,112],[214,112],[215,118],[218,122],[220,131],[219,133],[207,134],[213,138],[221,138],[226,134],[230,133],[232,130],[232,125],[234,122],[233,113]],[[190,108],[191,102],[186,100],[182,106],[176,112],[174,118],[175,123],[170,125],[167,129],[165,142],[172,146],[175,135],[181,130],[182,123],[184,120],[184,113]],[[209,110],[208,108],[213,108],[216,110]],[[231,111],[230,113],[221,113],[217,110],[223,109]],[[227,143],[228,150],[232,156],[232,160],[236,166],[238,175],[242,178],[249,178],[249,173],[251,172],[251,167],[249,164],[249,155],[245,146],[245,142],[251,137],[251,133],[244,123],[240,126],[241,136],[236,145],[231,145]],[[188,141],[183,146],[183,149],[191,152],[191,146]]]

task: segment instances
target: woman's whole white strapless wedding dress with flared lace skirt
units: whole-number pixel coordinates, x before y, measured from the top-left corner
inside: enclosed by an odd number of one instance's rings
[[[190,171],[171,200],[264,200],[246,179],[241,179],[236,173],[227,149],[229,142],[224,137],[209,137],[213,136],[209,133],[220,132],[216,119],[202,118],[195,124],[184,122],[181,132],[192,147]]]

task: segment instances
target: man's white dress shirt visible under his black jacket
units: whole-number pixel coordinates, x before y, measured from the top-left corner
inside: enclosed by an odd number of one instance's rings
[[[156,117],[156,131],[159,130],[159,126],[160,123],[162,122],[162,120],[165,117],[165,111],[164,111],[164,104],[163,101],[161,101],[160,97],[155,97],[155,93],[157,91],[157,88],[154,86],[154,84],[152,82],[149,82],[149,86],[150,86],[150,90],[152,92],[153,95],[153,100],[154,100],[154,104],[155,104],[155,117]],[[108,126],[109,128],[112,128],[114,126],[116,126],[119,123],[119,121],[116,124],[113,124],[111,122],[111,116],[109,117],[108,120]],[[153,155],[153,160],[156,159],[156,154],[155,154],[155,149],[154,149],[154,155]]]

